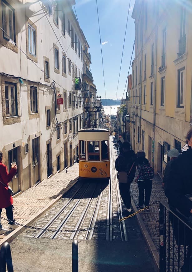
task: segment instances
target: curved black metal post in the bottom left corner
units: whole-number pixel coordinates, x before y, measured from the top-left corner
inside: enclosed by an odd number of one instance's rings
[[[13,272],[11,249],[7,242],[2,245],[0,250],[0,272],[6,272],[6,263],[7,271]]]

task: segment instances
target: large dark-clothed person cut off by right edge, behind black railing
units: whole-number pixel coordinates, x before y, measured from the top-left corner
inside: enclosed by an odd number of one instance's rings
[[[192,201],[186,196],[192,194],[192,128],[186,135],[186,144],[181,150],[181,155],[178,156],[171,164],[170,179],[167,184],[166,195],[169,199],[169,204],[177,208],[186,217],[192,216]],[[177,221],[177,220],[175,220]],[[178,235],[179,228],[179,235]],[[184,265],[181,271],[192,271],[190,266],[190,256],[192,254],[192,235],[187,229],[184,231],[183,224],[174,224],[175,239],[178,244],[188,245],[187,256],[184,260]],[[189,270],[190,268],[190,270]]]

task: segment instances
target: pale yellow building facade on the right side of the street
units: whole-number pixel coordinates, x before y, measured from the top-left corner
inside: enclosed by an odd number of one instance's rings
[[[132,149],[164,174],[167,150],[185,144],[192,115],[192,2],[136,0],[128,112]]]

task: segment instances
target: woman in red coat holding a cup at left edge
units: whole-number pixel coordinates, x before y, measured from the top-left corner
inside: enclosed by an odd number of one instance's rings
[[[12,165],[10,172],[7,171],[7,166],[3,164],[3,154],[0,151],[0,216],[2,208],[6,209],[7,219],[9,221],[8,229],[3,229],[0,218],[0,234],[5,233],[7,230],[13,230],[17,227],[14,224],[13,219],[13,198],[8,191],[8,183],[12,180],[12,177],[17,173],[17,164]],[[3,184],[2,184],[3,183]],[[5,184],[5,185],[4,185]]]

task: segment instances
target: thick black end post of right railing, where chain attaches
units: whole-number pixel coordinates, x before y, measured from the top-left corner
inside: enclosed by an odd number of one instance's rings
[[[166,208],[159,204],[159,271],[166,272]]]

